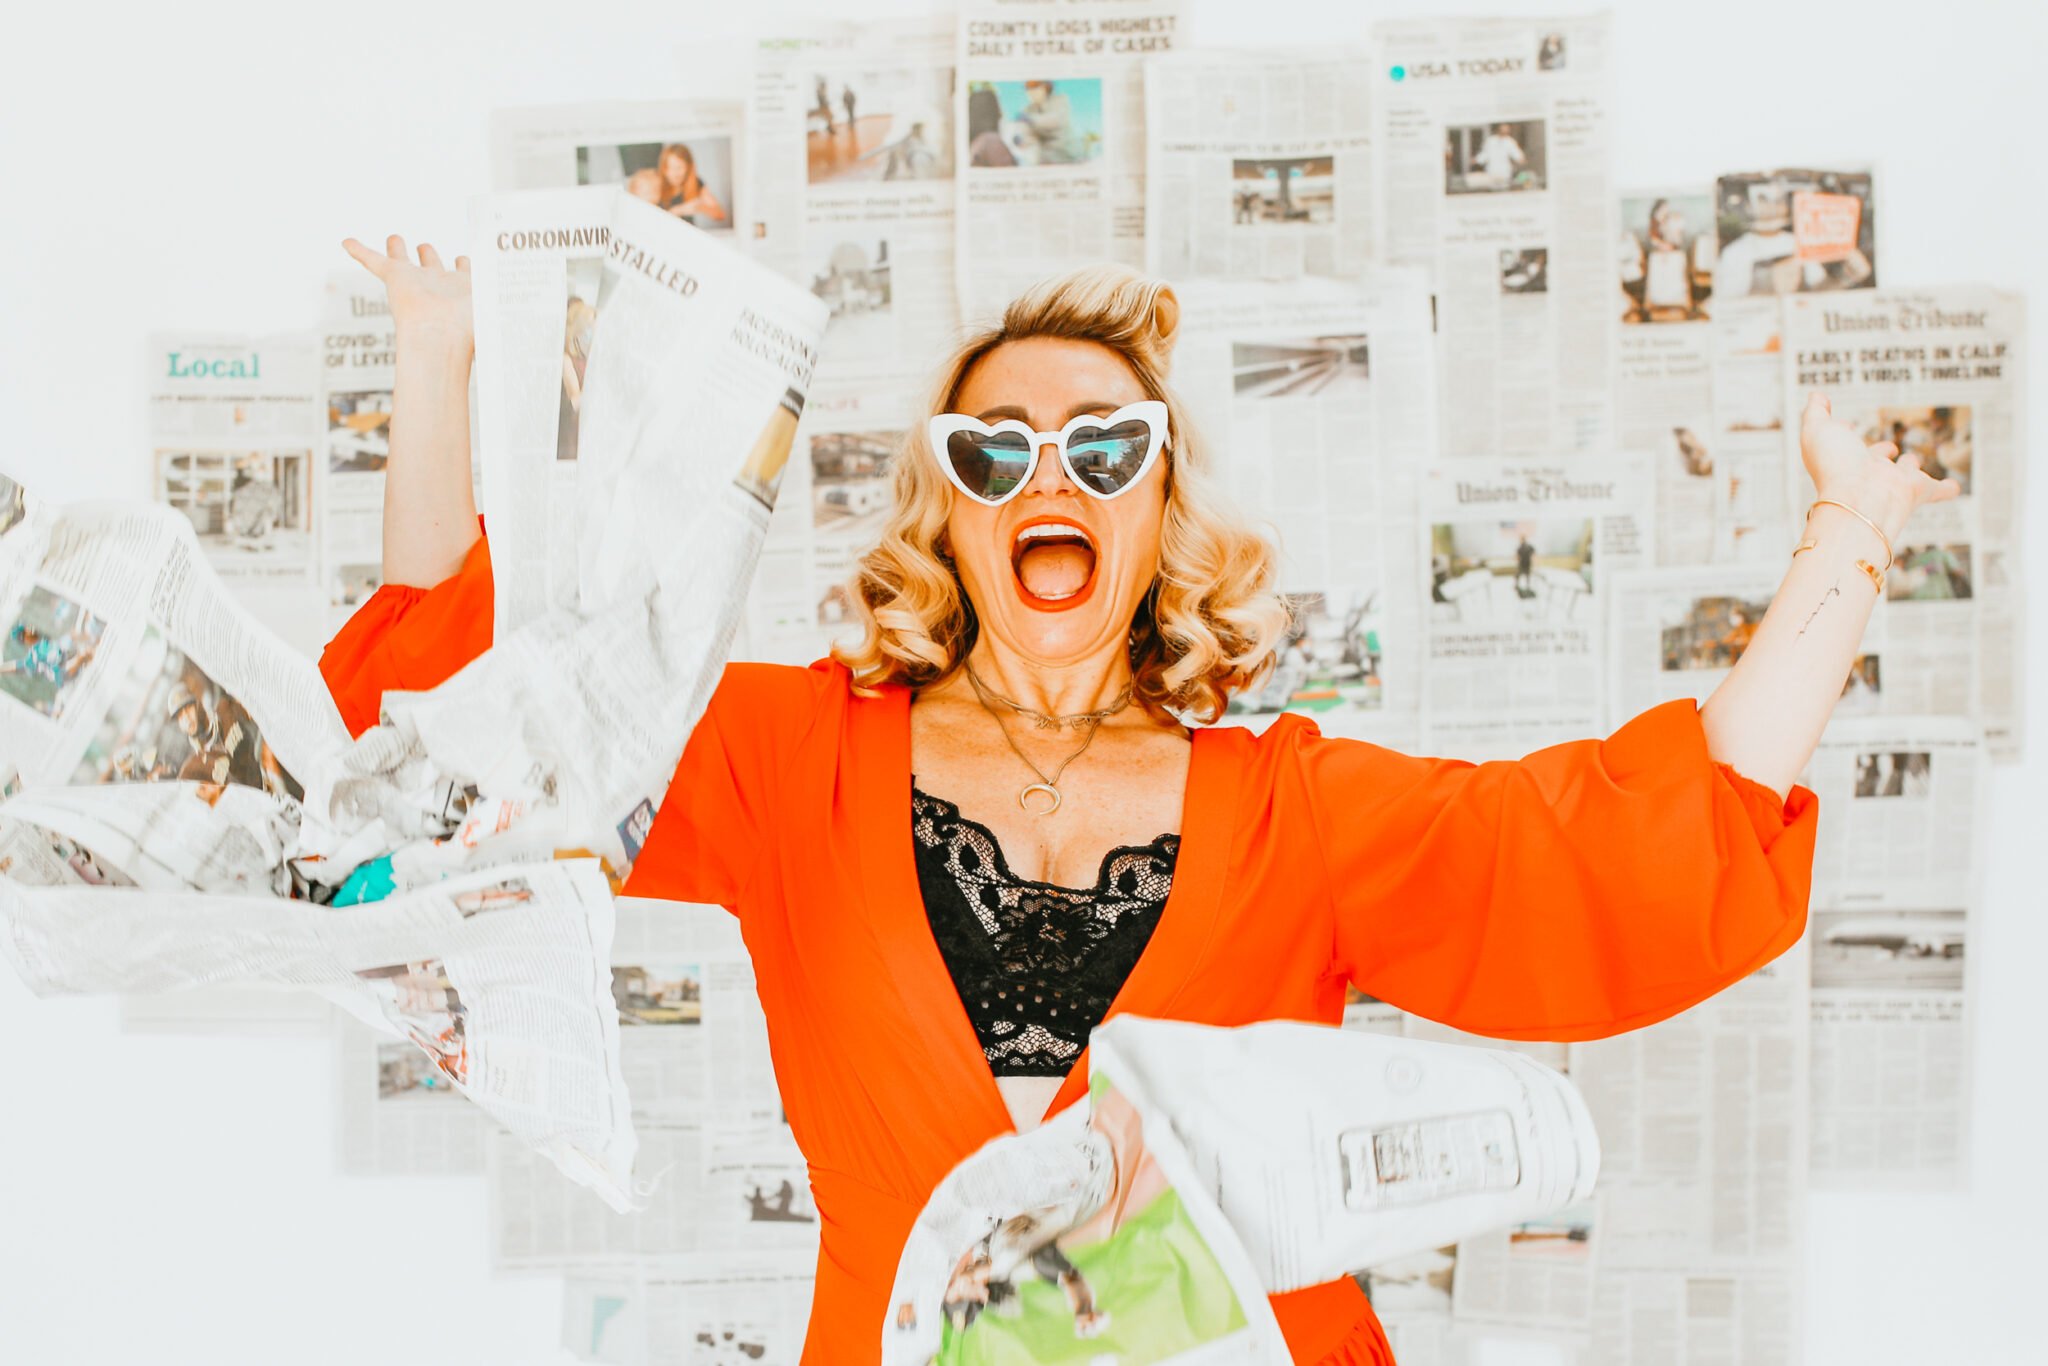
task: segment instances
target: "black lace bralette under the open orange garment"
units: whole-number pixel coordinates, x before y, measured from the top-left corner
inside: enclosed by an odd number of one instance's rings
[[[1094,887],[1010,872],[987,825],[911,782],[932,938],[997,1077],[1065,1077],[1159,926],[1180,836],[1102,856]]]

